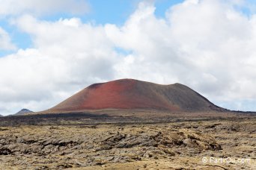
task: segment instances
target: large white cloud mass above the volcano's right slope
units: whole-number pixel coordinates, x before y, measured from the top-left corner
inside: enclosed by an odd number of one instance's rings
[[[209,0],[184,1],[166,19],[153,12],[142,3],[123,27],[106,25],[115,45],[134,52],[115,67],[118,77],[180,81],[218,103],[256,98],[255,16]]]

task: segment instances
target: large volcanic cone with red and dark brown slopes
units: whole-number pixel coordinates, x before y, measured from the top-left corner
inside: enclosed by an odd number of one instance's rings
[[[86,110],[225,111],[183,84],[160,85],[133,79],[92,84],[44,112]]]

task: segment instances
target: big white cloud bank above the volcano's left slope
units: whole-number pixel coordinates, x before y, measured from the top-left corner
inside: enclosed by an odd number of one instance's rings
[[[13,24],[33,37],[34,48],[0,58],[5,110],[10,106],[12,111],[19,110],[17,106],[43,110],[87,84],[113,78],[117,54],[102,26],[82,24],[76,18],[45,22],[27,15]]]

